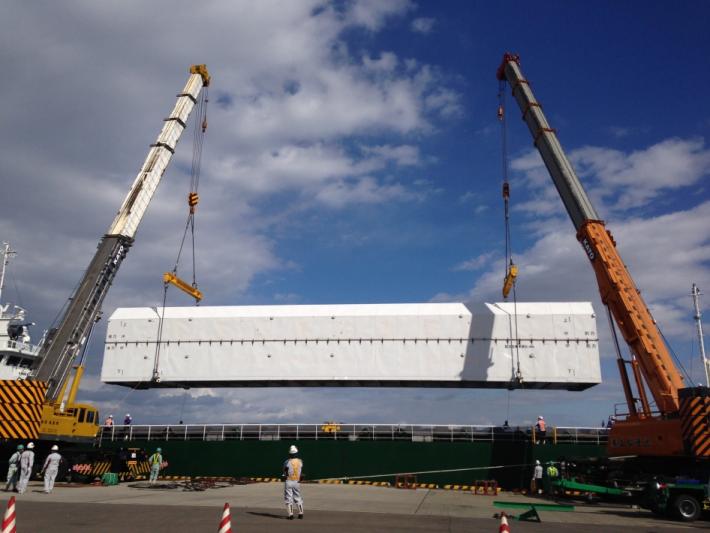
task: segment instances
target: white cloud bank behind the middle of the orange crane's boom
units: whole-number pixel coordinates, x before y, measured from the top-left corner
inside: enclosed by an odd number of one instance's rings
[[[710,202],[687,211],[648,219],[614,221],[608,228],[619,253],[667,335],[689,336],[690,284],[710,286]],[[570,221],[550,219],[534,244],[515,253],[520,268],[517,295],[526,301],[595,302],[599,328],[606,330],[592,266],[575,238]],[[515,252],[515,250],[514,250]],[[502,267],[487,270],[469,294],[473,300],[497,299]],[[610,354],[607,354],[610,355]]]

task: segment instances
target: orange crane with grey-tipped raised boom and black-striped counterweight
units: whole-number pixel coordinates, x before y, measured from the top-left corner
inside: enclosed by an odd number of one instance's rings
[[[668,347],[621,259],[611,232],[599,219],[582,183],[565,156],[554,129],[520,70],[520,58],[505,54],[497,78],[508,82],[562,202],[577,230],[577,239],[592,263],[602,303],[629,346],[625,360],[618,349],[628,413],[610,430],[610,457],[636,456],[653,473],[665,465],[678,474],[705,472],[710,463],[710,389],[685,387]],[[616,330],[612,324],[616,341]],[[627,367],[635,383],[635,393]],[[652,406],[647,391],[655,402]],[[673,459],[670,460],[669,459]]]

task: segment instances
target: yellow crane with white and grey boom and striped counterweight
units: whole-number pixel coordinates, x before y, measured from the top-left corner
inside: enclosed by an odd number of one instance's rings
[[[113,223],[99,241],[89,267],[69,299],[56,329],[46,336],[28,383],[0,382],[0,402],[10,416],[0,417],[0,436],[80,439],[95,436],[98,412],[76,404],[83,366],[74,361],[85,347],[91,328],[99,320],[101,305],[123,259],[134,242],[153,194],[167,168],[193,108],[204,98],[210,84],[205,65],[190,67],[190,76]],[[191,205],[192,207],[192,205]],[[74,379],[65,399],[72,368]],[[18,392],[19,391],[19,392]],[[37,413],[41,403],[41,420]],[[29,407],[28,407],[29,406]],[[32,414],[27,414],[31,412]]]

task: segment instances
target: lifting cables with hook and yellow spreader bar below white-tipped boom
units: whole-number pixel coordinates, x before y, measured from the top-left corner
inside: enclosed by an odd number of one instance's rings
[[[172,284],[175,285],[180,290],[186,292],[195,299],[195,305],[199,305],[202,299],[202,292],[197,288],[197,268],[196,268],[196,258],[195,258],[195,211],[197,204],[199,202],[199,195],[197,194],[200,185],[200,167],[202,165],[202,147],[205,140],[205,132],[207,131],[207,102],[209,102],[207,93],[207,87],[203,87],[200,92],[199,99],[195,104],[195,125],[192,137],[192,167],[190,169],[190,192],[187,195],[187,205],[188,205],[188,215],[187,222],[185,224],[185,231],[182,235],[182,241],[180,242],[180,247],[178,249],[177,258],[175,259],[175,266],[172,271],[163,274],[163,306],[160,310],[160,316],[158,318],[158,335],[155,342],[155,361],[153,363],[153,381],[160,381],[160,374],[158,372],[159,361],[160,361],[160,343],[163,338],[163,322],[165,319],[165,305],[168,298],[168,287]],[[180,257],[182,256],[183,248],[185,247],[185,240],[187,234],[190,232],[191,245],[192,245],[192,284],[189,284],[177,275],[178,265],[180,264]],[[137,385],[136,385],[137,386]]]

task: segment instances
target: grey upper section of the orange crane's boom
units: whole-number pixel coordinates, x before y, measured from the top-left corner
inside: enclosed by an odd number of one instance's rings
[[[528,80],[520,71],[517,56],[504,56],[498,69],[498,79],[505,79],[510,84],[513,96],[523,112],[523,120],[533,136],[535,147],[545,162],[575,229],[579,230],[587,220],[598,219],[594,206],[557,140],[555,130],[547,123],[542,106],[535,100]]]

